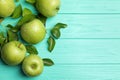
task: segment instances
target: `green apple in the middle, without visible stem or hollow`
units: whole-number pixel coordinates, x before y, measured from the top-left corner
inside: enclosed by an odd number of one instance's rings
[[[46,30],[39,19],[34,19],[21,27],[20,34],[26,42],[36,44],[45,38]]]

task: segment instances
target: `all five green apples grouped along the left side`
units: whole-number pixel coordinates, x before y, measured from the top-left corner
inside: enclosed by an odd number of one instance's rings
[[[58,13],[60,0],[36,0],[35,6],[45,17],[52,17]],[[0,17],[8,17],[15,10],[14,0],[0,0]],[[46,29],[39,19],[33,19],[21,26],[20,35],[28,44],[37,44],[44,40]],[[42,73],[44,64],[36,54],[26,55],[26,47],[20,41],[10,41],[1,48],[1,58],[8,65],[22,63],[23,72],[27,76],[37,76]]]

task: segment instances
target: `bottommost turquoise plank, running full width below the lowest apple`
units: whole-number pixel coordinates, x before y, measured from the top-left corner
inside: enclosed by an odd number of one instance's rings
[[[2,66],[2,67],[1,67]],[[17,67],[0,66],[1,80],[119,80],[120,65],[54,65],[45,67],[42,75],[27,77]],[[8,75],[9,71],[9,75]],[[7,75],[6,75],[7,74]]]

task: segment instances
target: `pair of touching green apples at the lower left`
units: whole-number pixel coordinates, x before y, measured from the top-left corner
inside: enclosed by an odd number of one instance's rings
[[[43,71],[43,61],[36,54],[26,56],[26,48],[19,41],[6,43],[1,50],[1,58],[8,65],[18,65],[22,62],[22,70],[27,76],[37,76]]]

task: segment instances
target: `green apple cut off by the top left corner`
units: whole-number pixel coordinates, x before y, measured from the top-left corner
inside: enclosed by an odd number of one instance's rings
[[[0,17],[10,16],[15,9],[14,0],[0,0]]]

